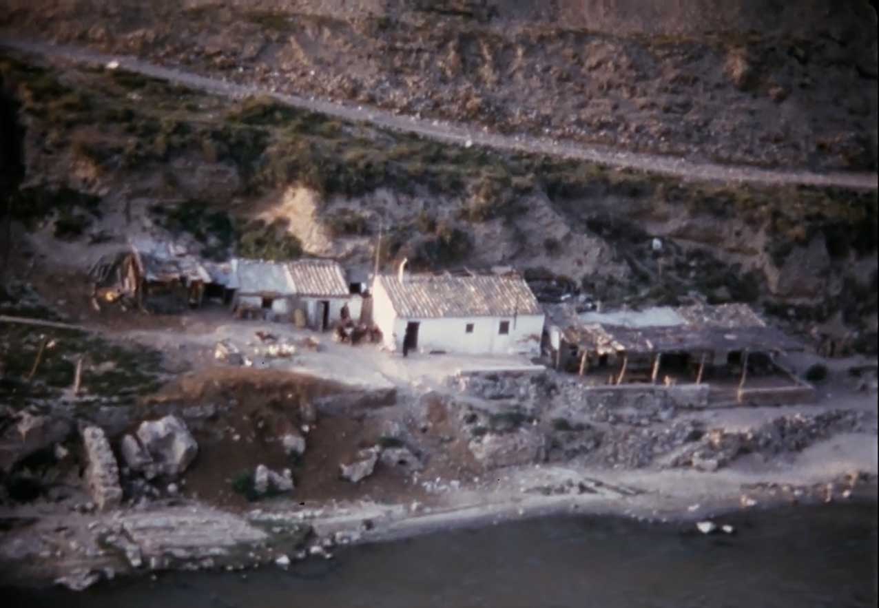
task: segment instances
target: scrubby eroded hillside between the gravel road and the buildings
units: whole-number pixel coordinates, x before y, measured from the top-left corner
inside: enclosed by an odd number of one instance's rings
[[[686,183],[230,104],[123,70],[0,67],[26,127],[18,271],[83,271],[138,233],[210,257],[304,251],[368,268],[381,230],[385,268],[514,264],[609,304],[696,292],[875,348],[875,192]]]

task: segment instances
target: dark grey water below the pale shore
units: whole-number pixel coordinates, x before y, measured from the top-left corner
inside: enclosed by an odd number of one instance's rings
[[[170,573],[81,593],[0,590],[10,608],[848,608],[876,605],[876,505],[693,525],[546,518],[350,547],[289,571]],[[11,602],[10,602],[11,600]]]

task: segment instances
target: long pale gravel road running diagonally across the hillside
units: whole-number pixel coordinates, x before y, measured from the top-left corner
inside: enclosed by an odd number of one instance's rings
[[[362,105],[345,105],[321,99],[304,98],[258,86],[233,83],[225,78],[200,76],[185,69],[163,67],[127,55],[103,54],[82,47],[22,40],[7,33],[0,33],[0,47],[8,47],[25,53],[41,54],[53,59],[64,59],[86,64],[105,65],[107,62],[115,61],[119,63],[121,69],[127,69],[144,76],[161,78],[173,83],[185,84],[193,89],[204,90],[229,98],[267,95],[283,104],[293,105],[314,112],[323,112],[340,119],[367,121],[376,127],[415,133],[433,140],[447,141],[460,145],[478,145],[502,150],[548,154],[698,181],[838,186],[859,190],[877,189],[877,175],[875,173],[814,173],[808,170],[767,170],[742,165],[697,163],[672,156],[623,152],[612,148],[557,141],[548,137],[495,134],[489,132],[484,127],[480,129],[461,123],[417,119],[416,117],[399,115],[394,112]]]

